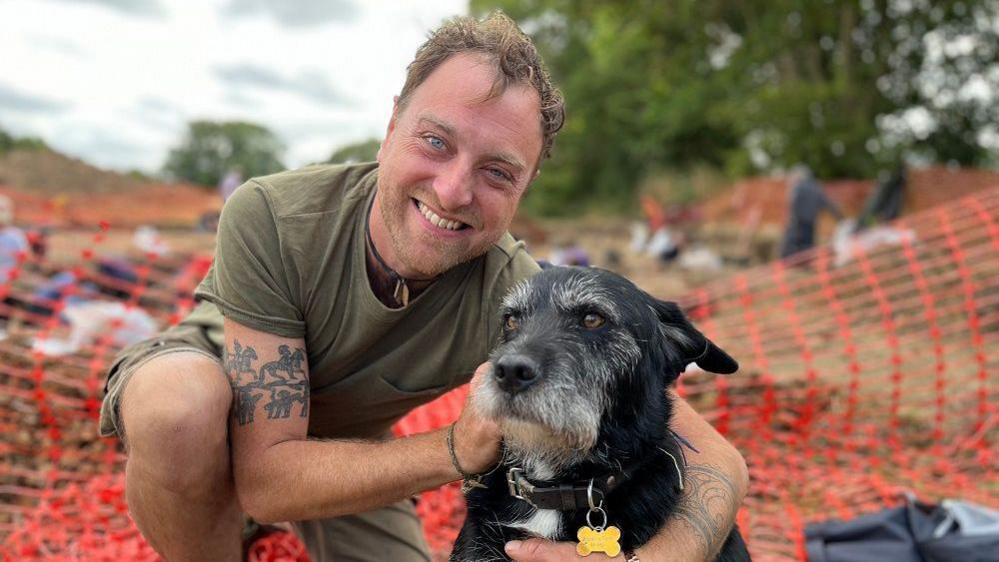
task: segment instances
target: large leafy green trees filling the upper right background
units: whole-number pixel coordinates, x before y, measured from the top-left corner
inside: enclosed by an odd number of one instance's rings
[[[566,97],[535,212],[620,208],[654,170],[802,162],[871,177],[904,155],[987,165],[999,88],[989,0],[472,0],[535,39]],[[936,45],[936,47],[934,47]],[[991,84],[990,84],[991,82]],[[913,129],[919,108],[932,126]],[[622,203],[624,201],[624,203]]]

